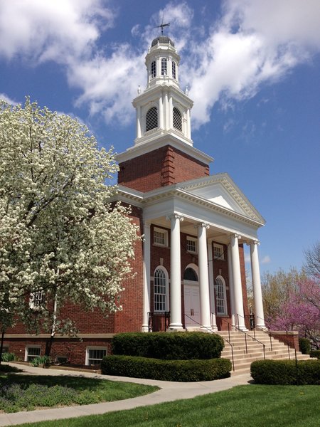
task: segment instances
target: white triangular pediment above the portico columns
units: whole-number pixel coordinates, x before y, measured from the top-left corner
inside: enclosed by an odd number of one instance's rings
[[[265,223],[259,212],[252,206],[228,174],[216,174],[204,179],[195,179],[181,183],[179,186],[194,196],[234,211],[236,214]]]

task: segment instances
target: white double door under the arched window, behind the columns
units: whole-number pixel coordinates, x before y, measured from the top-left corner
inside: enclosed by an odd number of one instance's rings
[[[200,327],[200,296],[198,282],[184,280],[184,321],[186,328]]]

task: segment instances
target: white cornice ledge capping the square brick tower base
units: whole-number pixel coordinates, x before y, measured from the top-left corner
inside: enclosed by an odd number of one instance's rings
[[[128,148],[125,152],[117,154],[116,159],[118,163],[127,162],[127,160],[142,156],[143,154],[165,147],[166,145],[170,145],[204,164],[213,162],[213,157],[192,147],[191,144],[186,144],[186,142],[178,139],[176,135],[171,135],[169,132],[165,132],[164,135],[160,136],[156,134],[154,139],[148,139],[148,142],[142,142],[141,144]]]

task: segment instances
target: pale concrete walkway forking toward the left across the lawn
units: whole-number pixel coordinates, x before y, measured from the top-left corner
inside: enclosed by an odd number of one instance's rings
[[[16,426],[22,423],[36,423],[37,421],[59,420],[63,418],[73,418],[76,416],[97,415],[99,413],[137,408],[137,406],[160,404],[162,402],[174,401],[177,399],[191,399],[195,396],[201,396],[202,394],[231,389],[233,386],[238,386],[241,384],[249,384],[251,380],[250,374],[243,374],[232,376],[226,379],[218,379],[215,381],[179,383],[175,381],[127,378],[124,376],[100,375],[92,372],[67,371],[62,369],[42,369],[21,364],[10,364],[12,366],[18,367],[19,369],[23,369],[23,374],[87,376],[89,378],[109,379],[111,381],[127,381],[137,384],[159,386],[161,389],[145,396],[134,397],[132,399],[126,399],[122,401],[105,402],[103,404],[65,406],[64,408],[41,409],[38,411],[24,411],[16,413],[0,413],[0,426]]]

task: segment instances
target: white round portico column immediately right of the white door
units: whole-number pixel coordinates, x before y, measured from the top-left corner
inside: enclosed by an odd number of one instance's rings
[[[200,322],[201,329],[210,330],[210,294],[208,277],[208,254],[206,231],[209,226],[202,223],[198,226],[198,263],[199,263],[199,285],[200,285]]]

